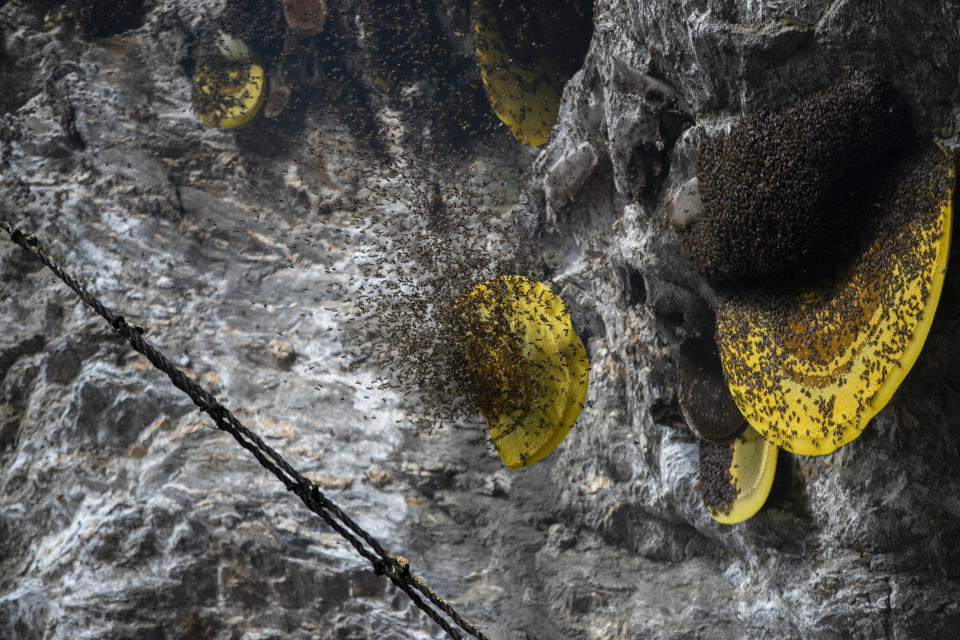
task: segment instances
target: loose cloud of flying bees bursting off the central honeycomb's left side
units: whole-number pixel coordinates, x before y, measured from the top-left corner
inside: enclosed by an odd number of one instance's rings
[[[509,412],[524,397],[529,371],[507,291],[490,289],[484,314],[469,294],[504,273],[536,278],[541,266],[517,221],[486,210],[480,193],[434,183],[412,196],[405,215],[361,223],[361,260],[371,267],[353,295],[373,335],[366,348],[390,374],[384,386],[416,407],[421,427],[479,424],[478,411]],[[504,394],[507,388],[517,394]]]

